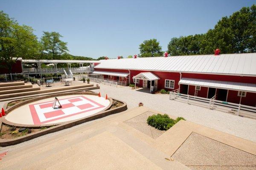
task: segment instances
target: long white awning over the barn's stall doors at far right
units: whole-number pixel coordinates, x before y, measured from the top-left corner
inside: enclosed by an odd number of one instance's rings
[[[235,91],[248,91],[248,92],[256,93],[256,84],[251,84],[251,83],[182,78],[180,79],[179,84],[197,85],[197,86],[210,87],[210,88],[222,88],[222,89],[229,89],[229,90],[235,90]]]

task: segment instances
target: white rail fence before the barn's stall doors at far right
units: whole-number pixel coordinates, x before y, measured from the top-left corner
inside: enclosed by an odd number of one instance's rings
[[[216,100],[215,96],[211,99],[207,99],[188,94],[180,94],[179,89],[177,89],[170,91],[169,99],[256,119],[256,107]]]

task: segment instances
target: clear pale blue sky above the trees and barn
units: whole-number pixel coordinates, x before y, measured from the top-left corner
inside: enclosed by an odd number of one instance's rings
[[[163,51],[172,37],[201,34],[254,0],[0,0],[20,24],[57,31],[69,53],[86,57],[138,54],[156,38]]]

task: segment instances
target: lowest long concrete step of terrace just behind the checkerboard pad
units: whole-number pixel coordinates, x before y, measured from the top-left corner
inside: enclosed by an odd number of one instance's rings
[[[16,99],[25,99],[25,98],[33,98],[38,96],[44,96],[44,95],[50,95],[50,94],[59,94],[59,93],[67,93],[67,92],[73,92],[73,91],[84,91],[84,90],[93,90],[98,89],[99,87],[93,87],[93,85],[87,86],[87,87],[76,87],[72,89],[55,89],[55,91],[45,91],[45,90],[39,90],[39,91],[32,91],[32,92],[23,92],[23,93],[17,93],[17,94],[11,94],[11,95],[0,95],[0,102],[8,101],[8,100],[16,100]],[[47,89],[50,90],[50,89]],[[8,97],[3,97],[8,96]]]

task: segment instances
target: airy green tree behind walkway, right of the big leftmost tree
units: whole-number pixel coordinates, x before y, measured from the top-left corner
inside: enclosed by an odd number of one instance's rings
[[[44,31],[41,37],[42,53],[47,54],[49,59],[60,59],[61,55],[68,51],[67,42],[63,42],[63,37],[58,32]]]

